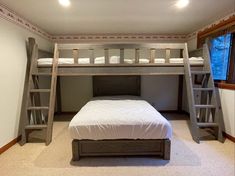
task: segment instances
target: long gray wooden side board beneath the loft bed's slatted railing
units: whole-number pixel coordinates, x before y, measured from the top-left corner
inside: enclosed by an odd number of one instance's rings
[[[193,65],[193,70],[202,70],[203,64]],[[39,66],[40,73],[50,73],[50,66]],[[183,64],[109,64],[59,65],[58,76],[94,75],[184,75]]]

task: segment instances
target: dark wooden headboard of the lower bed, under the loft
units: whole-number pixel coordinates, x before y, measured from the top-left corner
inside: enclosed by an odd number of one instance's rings
[[[140,76],[93,76],[93,96],[140,96]]]

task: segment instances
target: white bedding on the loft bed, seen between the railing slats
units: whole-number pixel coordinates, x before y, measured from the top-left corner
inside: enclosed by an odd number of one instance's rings
[[[53,58],[39,58],[37,60],[38,65],[52,65],[52,60]],[[94,59],[95,64],[105,64],[105,57],[96,57]],[[111,56],[109,58],[109,63],[110,64],[119,64],[120,63],[120,56]],[[135,60],[134,59],[124,59],[125,64],[134,64]],[[140,58],[139,59],[140,64],[148,64],[150,63],[149,59],[146,58]],[[155,58],[154,59],[155,64],[164,64],[166,63],[165,58]],[[184,63],[183,58],[170,58],[169,63],[172,64],[182,64]],[[202,57],[191,57],[189,58],[189,63],[190,64],[203,64],[204,59]],[[74,59],[73,58],[59,58],[58,64],[74,64]],[[90,64],[90,58],[78,58],[78,64]]]

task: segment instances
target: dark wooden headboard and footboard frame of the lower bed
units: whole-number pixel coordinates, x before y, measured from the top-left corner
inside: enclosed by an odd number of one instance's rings
[[[140,76],[94,76],[93,95],[140,96]],[[120,86],[121,85],[121,86]],[[83,156],[156,155],[170,159],[169,139],[76,140],[72,142],[73,161]]]

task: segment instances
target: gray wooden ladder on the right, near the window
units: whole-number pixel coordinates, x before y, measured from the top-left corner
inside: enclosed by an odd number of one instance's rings
[[[223,116],[221,113],[219,95],[214,86],[207,44],[203,46],[204,66],[201,70],[192,70],[188,59],[187,46],[184,49],[184,58],[185,80],[193,140],[200,143],[200,129],[209,128],[212,130],[217,140],[224,142],[222,134],[224,129]],[[195,76],[200,76],[201,78],[198,87],[194,84]],[[195,97],[196,93],[201,95],[199,100]]]

